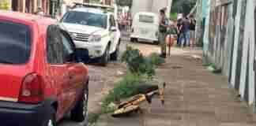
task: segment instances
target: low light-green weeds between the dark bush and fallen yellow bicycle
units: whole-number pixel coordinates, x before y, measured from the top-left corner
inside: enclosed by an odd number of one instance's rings
[[[103,113],[110,113],[113,109],[108,105],[111,102],[119,101],[121,98],[129,98],[130,96],[138,94],[138,87],[143,80],[141,76],[133,73],[127,73],[124,78],[115,84],[112,91],[109,92],[102,105]]]

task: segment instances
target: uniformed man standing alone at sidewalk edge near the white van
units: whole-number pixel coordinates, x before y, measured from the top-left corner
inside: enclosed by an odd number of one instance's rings
[[[165,38],[168,31],[168,18],[165,16],[164,9],[160,9],[160,25],[159,25],[159,42],[161,46],[160,57],[166,57],[166,43]]]

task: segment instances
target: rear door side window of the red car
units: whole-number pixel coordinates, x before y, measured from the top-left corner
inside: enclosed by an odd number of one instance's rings
[[[47,61],[50,64],[64,63],[61,33],[55,25],[47,28]]]

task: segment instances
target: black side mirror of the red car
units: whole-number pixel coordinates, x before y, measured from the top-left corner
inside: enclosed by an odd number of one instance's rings
[[[86,50],[86,49],[76,49],[75,54],[76,54],[76,57],[77,57],[77,62],[88,63],[88,61],[89,61],[88,50]]]

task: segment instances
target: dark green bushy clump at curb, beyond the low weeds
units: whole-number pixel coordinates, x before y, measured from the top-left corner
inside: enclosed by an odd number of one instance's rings
[[[142,75],[145,74],[149,77],[154,76],[156,73],[152,62],[143,57],[140,50],[133,49],[130,46],[127,46],[126,51],[123,53],[122,61],[126,62],[130,72]]]

